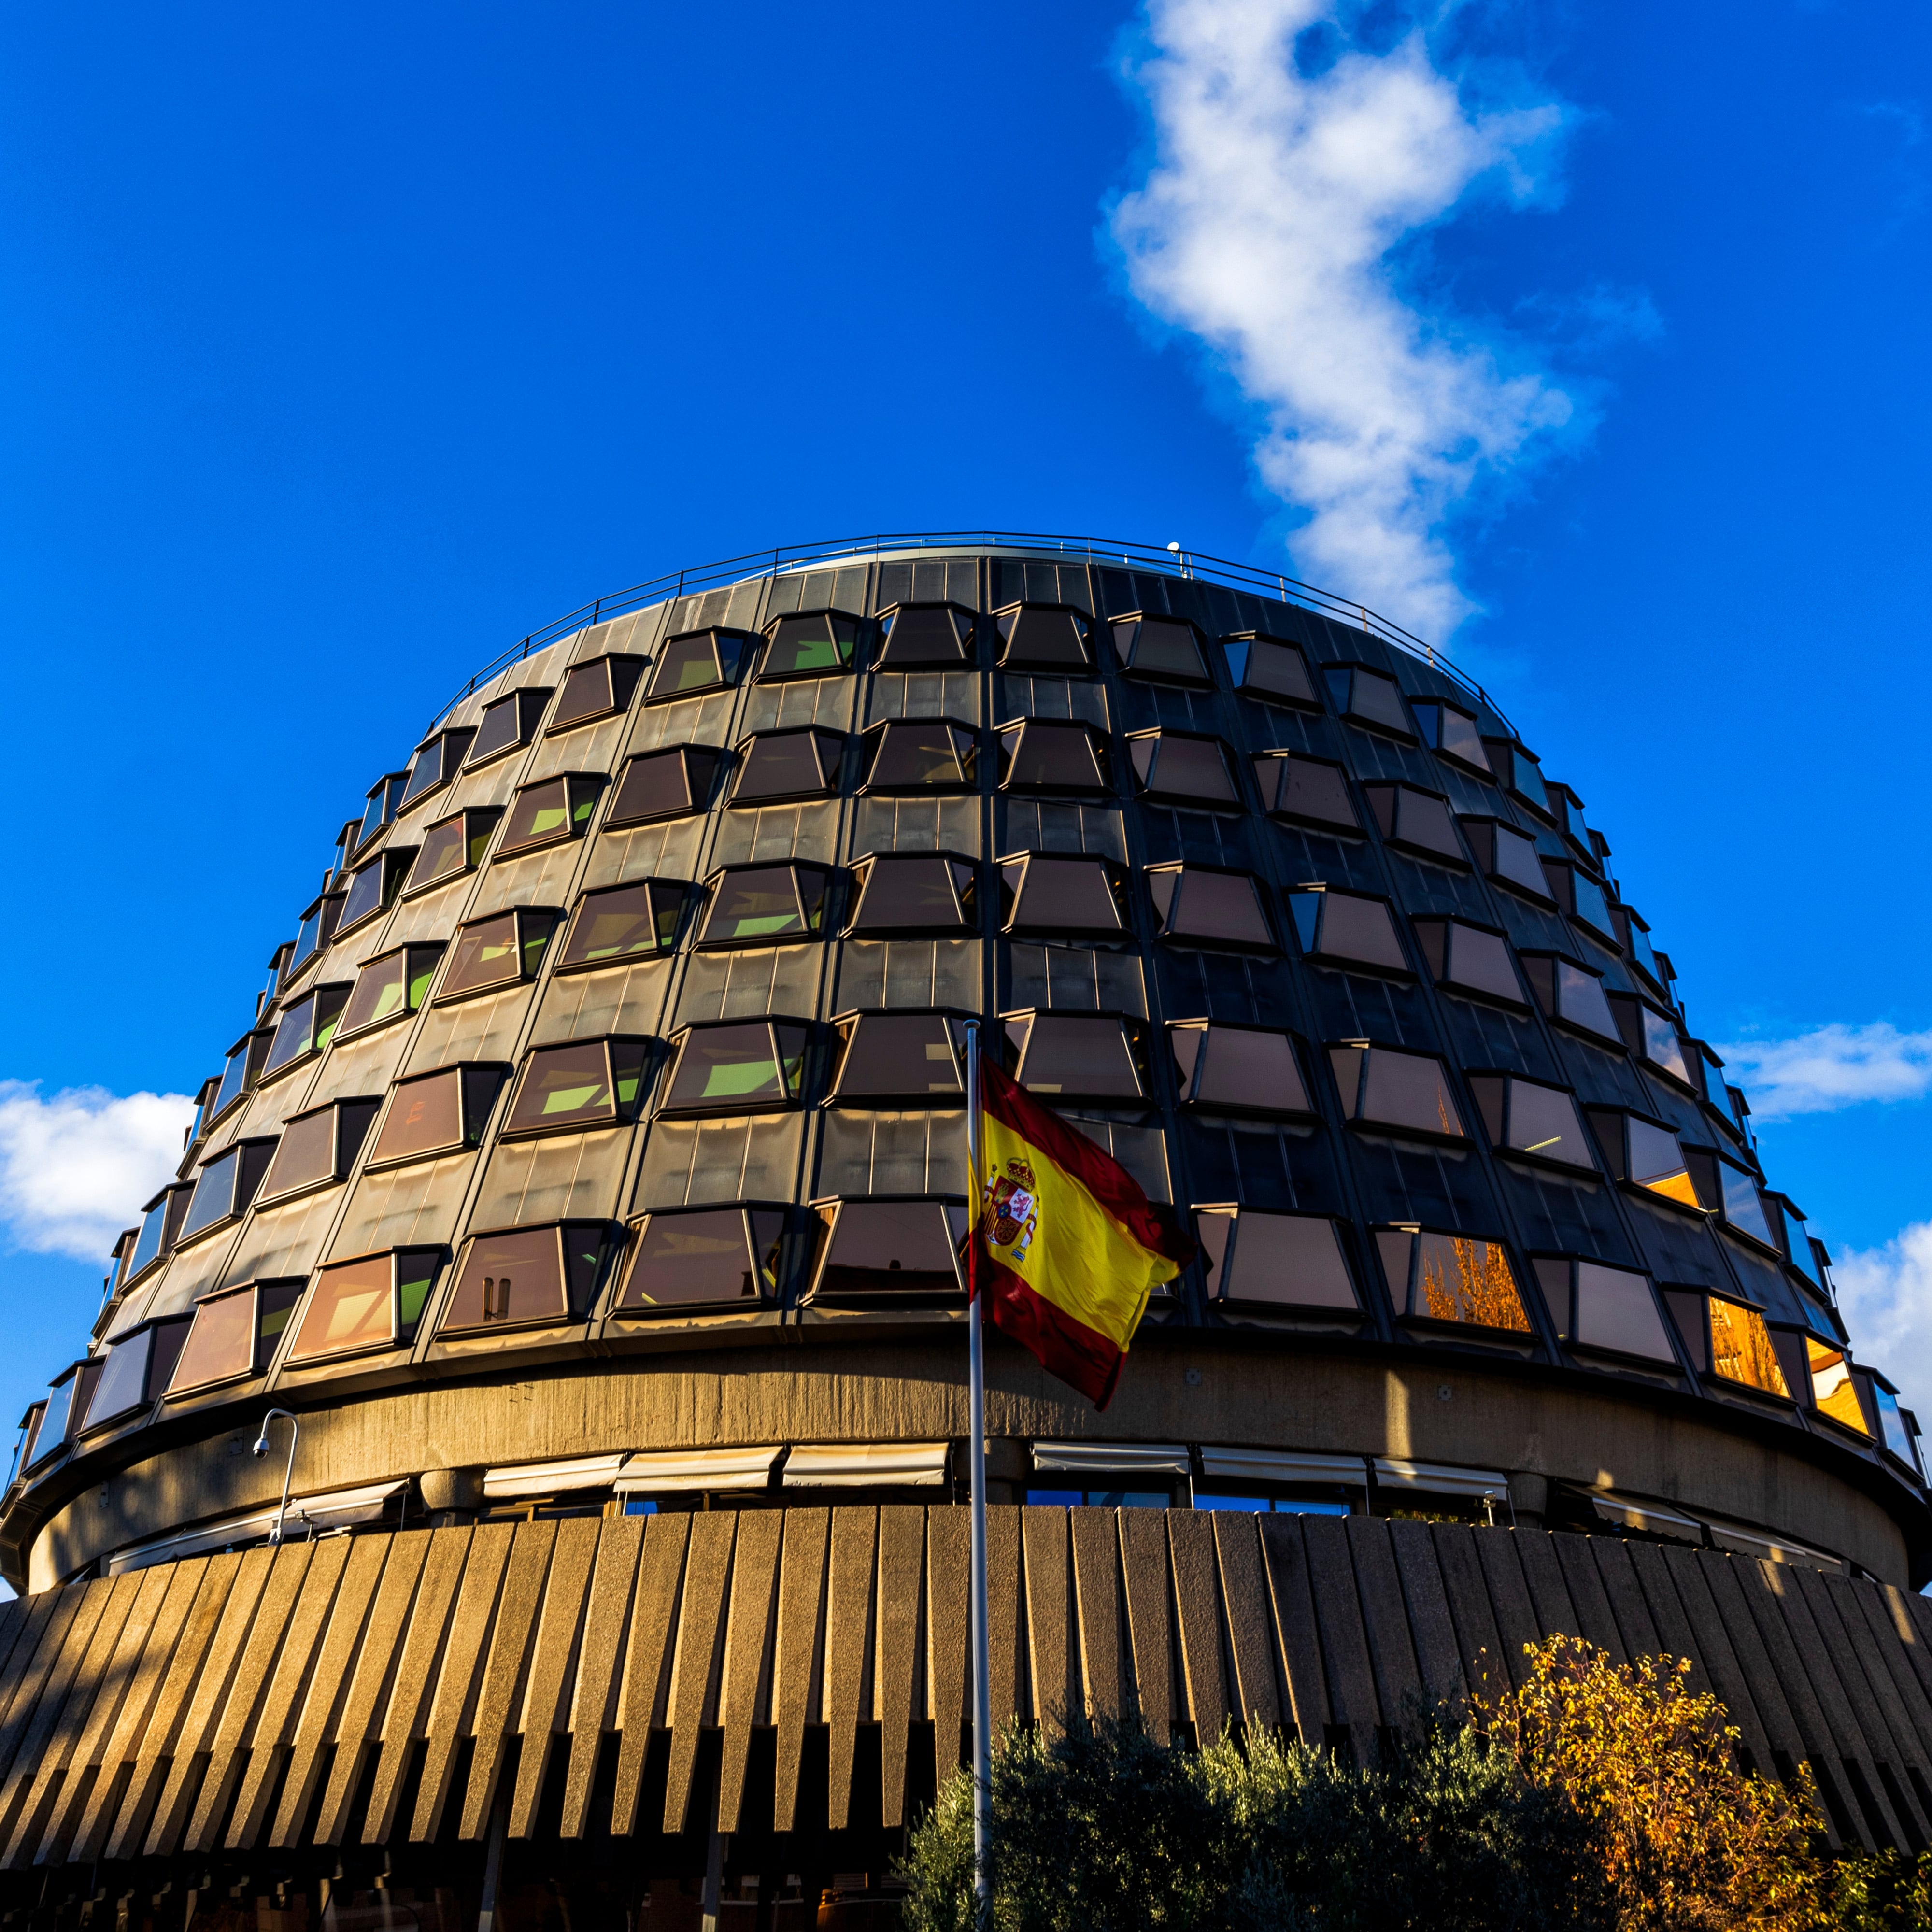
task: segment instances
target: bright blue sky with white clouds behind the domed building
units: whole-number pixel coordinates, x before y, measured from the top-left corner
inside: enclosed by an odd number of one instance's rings
[[[1692,1026],[1752,1049],[1772,1182],[1932,1410],[1932,17],[81,0],[0,35],[14,1412],[99,1293],[64,1250],[164,1138],[104,1095],[216,1068],[471,668],[667,566],[980,524],[1453,628]]]

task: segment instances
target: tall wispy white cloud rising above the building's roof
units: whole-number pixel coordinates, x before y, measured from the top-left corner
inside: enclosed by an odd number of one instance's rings
[[[1130,79],[1155,156],[1113,234],[1134,296],[1208,342],[1258,406],[1262,481],[1308,512],[1296,568],[1441,641],[1474,609],[1445,520],[1575,404],[1405,301],[1391,251],[1478,185],[1538,193],[1540,151],[1567,110],[1464,104],[1420,29],[1298,71],[1296,37],[1333,29],[1337,12],[1150,0],[1151,54]]]

